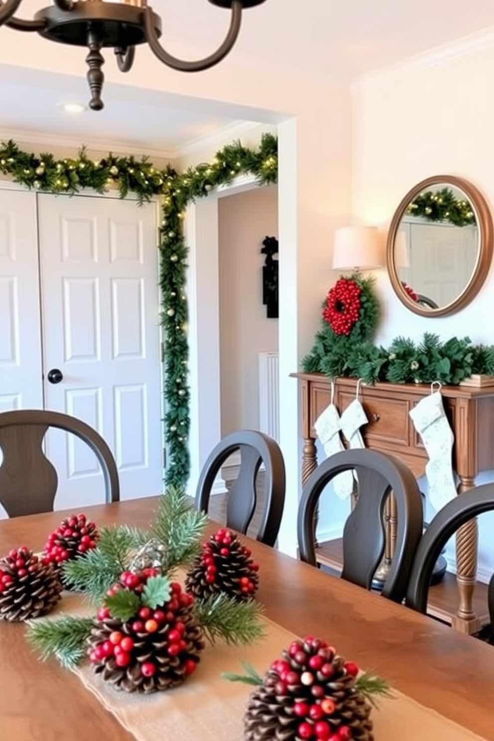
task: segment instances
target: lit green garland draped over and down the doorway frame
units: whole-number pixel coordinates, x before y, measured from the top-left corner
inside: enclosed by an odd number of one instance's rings
[[[188,248],[184,241],[183,219],[187,205],[207,196],[219,185],[238,175],[256,176],[260,185],[278,178],[278,142],[265,133],[258,150],[234,142],[216,153],[213,162],[204,162],[177,173],[172,167],[154,167],[147,157],[119,157],[109,153],[91,159],[82,147],[74,158],[56,159],[52,154],[24,152],[13,141],[0,144],[0,172],[28,188],[48,193],[73,195],[84,188],[105,193],[116,187],[120,196],[136,193],[138,203],[162,198],[160,227],[161,326],[164,330],[164,436],[167,443],[167,484],[187,482],[190,472],[188,437],[190,431],[190,388],[187,342]]]

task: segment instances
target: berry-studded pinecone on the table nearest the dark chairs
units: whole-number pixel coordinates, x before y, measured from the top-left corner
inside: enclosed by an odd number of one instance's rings
[[[197,599],[220,592],[236,599],[252,597],[258,588],[258,565],[236,534],[220,528],[203,545],[201,556],[193,562],[185,585]]]

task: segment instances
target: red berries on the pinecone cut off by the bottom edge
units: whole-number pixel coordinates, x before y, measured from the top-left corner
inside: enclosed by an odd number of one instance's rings
[[[287,659],[277,659],[271,665],[275,675],[277,695],[290,696],[295,702],[293,714],[300,719],[297,736],[312,741],[349,741],[352,729],[349,725],[332,722],[336,704],[328,696],[327,682],[331,682],[336,668],[333,659],[336,651],[327,642],[309,636],[304,641],[293,641],[288,648]],[[356,677],[358,666],[344,662],[343,673]],[[340,671],[341,676],[341,671]],[[305,691],[301,691],[301,686]]]

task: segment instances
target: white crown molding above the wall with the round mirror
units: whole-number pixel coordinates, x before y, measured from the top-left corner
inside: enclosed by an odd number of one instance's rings
[[[352,80],[350,91],[353,94],[361,90],[383,87],[404,73],[413,70],[423,70],[428,67],[440,67],[442,64],[447,64],[453,59],[458,59],[458,57],[467,56],[468,54],[473,54],[493,46],[494,26],[490,26],[478,31],[478,33],[464,36],[463,39],[451,41],[449,44],[443,44],[427,52],[411,56],[402,62],[398,62],[398,64],[392,64],[389,67],[382,67],[380,70],[375,70],[375,72],[358,76]]]

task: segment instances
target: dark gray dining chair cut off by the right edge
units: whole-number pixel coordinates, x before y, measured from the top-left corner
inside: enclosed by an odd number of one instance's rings
[[[408,607],[418,612],[426,611],[427,594],[435,559],[441,553],[442,548],[458,528],[461,528],[461,525],[491,510],[494,510],[494,484],[483,484],[470,491],[465,491],[461,496],[447,502],[447,505],[438,511],[418,544],[407,589],[406,604]],[[494,577],[490,580],[488,602],[490,621],[493,625]],[[491,628],[491,642],[493,639],[494,629]]]

